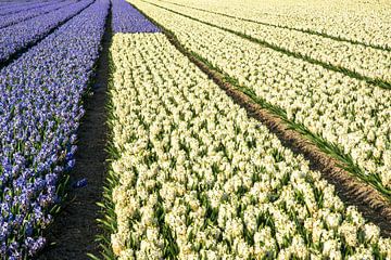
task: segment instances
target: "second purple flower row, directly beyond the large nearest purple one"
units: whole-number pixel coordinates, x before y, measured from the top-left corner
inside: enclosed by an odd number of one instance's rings
[[[93,0],[81,0],[74,4],[59,9],[0,30],[0,62],[10,58],[21,49],[33,44],[49,34],[50,30],[72,18]]]

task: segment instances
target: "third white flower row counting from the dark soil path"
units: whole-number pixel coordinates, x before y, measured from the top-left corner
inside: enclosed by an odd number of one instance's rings
[[[182,0],[174,0],[181,4]],[[378,78],[391,83],[391,52],[370,47],[341,42],[301,31],[275,28],[241,20],[216,15],[194,9],[178,6],[160,1],[159,5],[189,15],[224,28],[228,28],[253,38],[264,40],[290,52],[294,52],[336,67],[343,67],[363,76]],[[209,10],[212,4],[197,4]],[[243,17],[245,15],[243,14]]]

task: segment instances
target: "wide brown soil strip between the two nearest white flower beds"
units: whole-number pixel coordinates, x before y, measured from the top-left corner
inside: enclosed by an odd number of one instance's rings
[[[137,8],[137,6],[135,6]],[[139,9],[138,9],[139,10]],[[329,183],[336,186],[337,194],[345,203],[358,208],[364,218],[380,227],[381,235],[391,236],[391,204],[376,188],[364,183],[350,172],[341,169],[339,161],[321,152],[315,144],[301,135],[269,110],[262,108],[247,94],[225,80],[224,75],[211,68],[179,42],[176,36],[161,26],[153,18],[139,10],[150,21],[157,25],[175,48],[194,63],[203,73],[217,83],[238,105],[245,108],[248,115],[260,120],[270,132],[275,133],[281,143],[295,154],[303,155],[311,162],[311,169],[319,171]]]

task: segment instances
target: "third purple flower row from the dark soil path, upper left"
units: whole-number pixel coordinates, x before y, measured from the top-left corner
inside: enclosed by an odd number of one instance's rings
[[[35,9],[30,9],[30,10],[26,10],[26,11],[22,11],[22,12],[17,12],[14,14],[9,14],[9,15],[4,15],[1,20],[0,20],[0,28],[4,28],[17,23],[21,23],[23,21],[29,20],[29,18],[34,18],[37,17],[39,15],[43,15],[46,13],[55,11],[58,9],[64,8],[71,3],[75,3],[77,0],[67,0],[67,1],[59,1],[55,3],[51,3],[45,6],[40,6],[40,8],[35,8]]]

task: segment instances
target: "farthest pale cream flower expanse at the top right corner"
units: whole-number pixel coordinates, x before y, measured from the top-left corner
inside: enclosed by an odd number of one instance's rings
[[[388,0],[164,0],[261,23],[311,30],[369,46],[391,48]],[[159,1],[161,3],[161,1]]]

